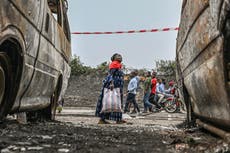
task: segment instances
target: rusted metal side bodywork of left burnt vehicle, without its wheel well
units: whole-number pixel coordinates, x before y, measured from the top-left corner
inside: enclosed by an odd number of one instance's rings
[[[61,0],[59,8],[64,7],[62,3]],[[22,47],[22,76],[12,112],[48,106],[61,75],[61,94],[64,94],[71,58],[70,40],[63,30],[64,10],[58,10],[62,16],[59,25],[47,0],[0,1],[0,45],[15,38]]]

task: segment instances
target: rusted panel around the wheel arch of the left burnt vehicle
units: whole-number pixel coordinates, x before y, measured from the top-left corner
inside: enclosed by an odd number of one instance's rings
[[[42,26],[40,6],[42,2],[37,0],[34,3],[25,0],[1,0],[1,39],[20,37],[23,52],[22,77],[19,82],[19,90],[12,111],[17,110],[20,105],[20,98],[26,91],[33,76],[34,65],[39,46],[39,33]],[[20,35],[20,36],[19,36]]]

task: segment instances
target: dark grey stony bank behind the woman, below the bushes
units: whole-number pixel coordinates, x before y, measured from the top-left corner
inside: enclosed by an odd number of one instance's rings
[[[102,81],[105,75],[80,75],[71,76],[69,79],[68,88],[65,94],[64,106],[68,107],[95,107],[97,104],[98,97],[102,89]],[[124,84],[124,103],[126,101],[126,91],[128,86],[128,81]],[[137,94],[137,102],[139,107],[143,107],[143,83],[140,82],[140,88]]]

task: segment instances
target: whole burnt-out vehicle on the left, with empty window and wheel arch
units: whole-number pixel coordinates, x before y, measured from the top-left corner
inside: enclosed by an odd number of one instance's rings
[[[71,58],[66,0],[0,1],[0,119],[42,112],[53,119]]]

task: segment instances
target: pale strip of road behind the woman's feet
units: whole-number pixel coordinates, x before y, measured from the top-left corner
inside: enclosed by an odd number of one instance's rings
[[[90,107],[67,107],[64,108],[61,114],[57,114],[57,120],[61,122],[71,122],[75,125],[85,124],[97,126],[98,118],[94,116],[95,110]],[[160,113],[142,113],[137,114],[123,114],[124,119],[128,124],[123,124],[124,126],[167,126],[175,127],[176,125],[182,123],[185,120],[185,113],[166,113],[161,111]],[[116,125],[113,121],[110,121],[112,126]],[[123,126],[122,125],[122,126]]]

